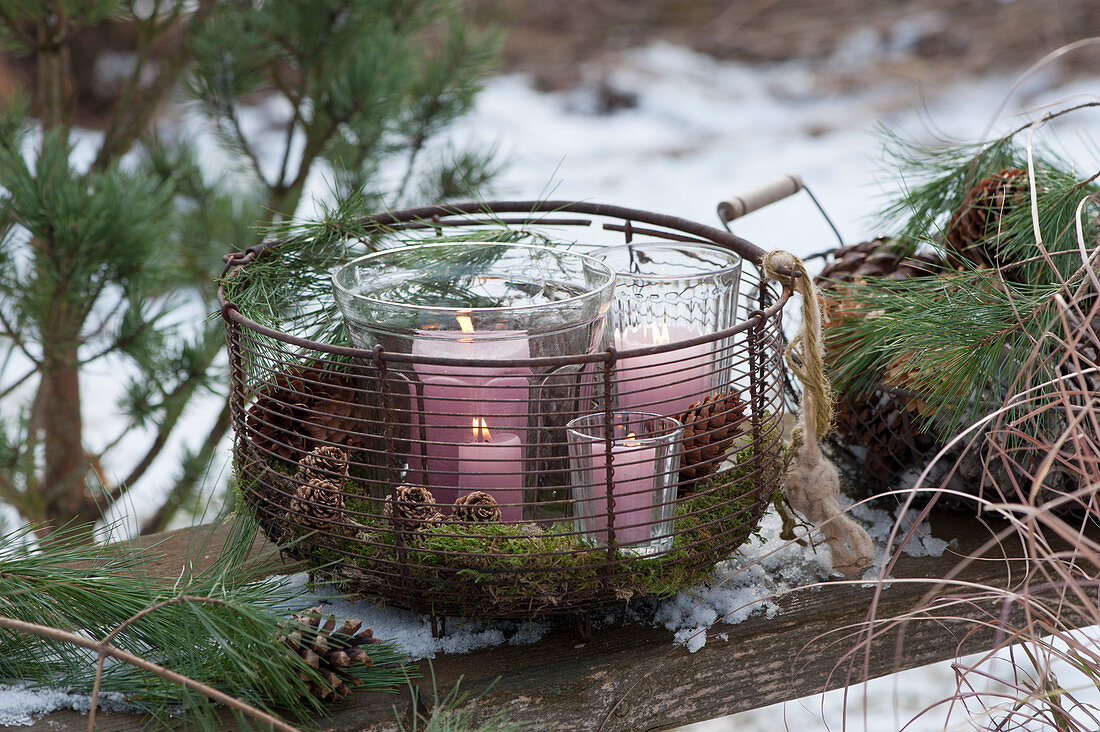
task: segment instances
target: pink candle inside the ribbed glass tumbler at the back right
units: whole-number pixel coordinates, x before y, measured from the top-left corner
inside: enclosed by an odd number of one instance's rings
[[[626,351],[702,335],[701,330],[678,323],[647,324],[616,330],[615,348]],[[714,345],[700,343],[666,353],[620,359],[617,370],[620,409],[675,417],[711,392]]]

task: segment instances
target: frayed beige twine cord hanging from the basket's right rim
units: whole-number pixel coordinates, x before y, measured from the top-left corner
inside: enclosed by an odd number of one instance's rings
[[[802,327],[783,352],[791,373],[802,382],[799,420],[787,446],[790,461],[783,477],[783,495],[796,513],[825,535],[833,568],[854,577],[870,564],[875,553],[864,527],[840,507],[840,478],[818,445],[833,424],[833,390],[825,378],[817,292],[805,264],[790,252],[769,252],[763,259],[763,274],[776,282],[790,282],[802,296]]]

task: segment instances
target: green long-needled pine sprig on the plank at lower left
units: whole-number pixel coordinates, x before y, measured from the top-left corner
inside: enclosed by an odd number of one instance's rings
[[[321,678],[278,641],[280,623],[302,610],[285,580],[263,579],[250,561],[255,525],[245,516],[217,561],[178,578],[148,577],[146,550],[95,548],[82,533],[55,532],[34,547],[28,529],[0,536],[0,615],[100,638],[144,609],[174,600],[142,616],[113,645],[207,684],[258,709],[305,719],[323,711],[307,679]],[[178,601],[204,598],[208,602]],[[393,689],[407,671],[392,646],[372,645],[370,668],[352,668],[364,688]],[[0,631],[0,678],[91,691],[96,656],[70,644]],[[204,696],[127,664],[108,664],[100,689],[166,719],[185,714],[205,729],[219,729]]]

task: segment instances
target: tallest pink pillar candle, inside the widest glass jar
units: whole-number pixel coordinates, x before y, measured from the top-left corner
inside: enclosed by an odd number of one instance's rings
[[[436,331],[430,338],[415,339],[411,349],[414,356],[476,359],[480,362],[477,365],[413,364],[424,391],[422,404],[414,402],[414,409],[424,411],[425,425],[419,482],[430,487],[436,501],[444,505],[454,503],[462,493],[459,450],[470,443],[471,418],[483,418],[491,429],[510,434],[520,444],[527,441],[524,437],[529,411],[528,379],[532,375],[526,367],[495,365],[497,360],[530,358],[530,342],[522,334],[475,334],[470,319],[463,316],[459,316],[459,325],[462,330]],[[420,437],[419,430],[414,429],[414,440]],[[519,467],[515,472],[521,483],[522,448],[519,451]],[[413,465],[410,468],[416,469]],[[470,490],[479,489],[471,487]]]

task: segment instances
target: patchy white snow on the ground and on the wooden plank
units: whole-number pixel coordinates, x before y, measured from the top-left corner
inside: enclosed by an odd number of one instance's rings
[[[883,53],[890,50],[876,46],[873,39],[855,36],[831,64],[844,67],[873,63],[877,54]],[[975,139],[989,124],[994,130],[1015,127],[1021,122],[1015,114],[1022,108],[1042,110],[1044,105],[1054,102],[1096,100],[1100,89],[1097,84],[1100,78],[1056,86],[1053,77],[1040,75],[1012,97],[1008,113],[991,120],[1013,77],[976,79],[946,89],[891,83],[838,92],[818,86],[814,72],[796,62],[748,67],[715,62],[671,46],[625,55],[607,72],[607,78],[616,88],[636,94],[637,106],[598,116],[593,111],[594,84],[570,92],[542,94],[520,76],[493,79],[474,112],[451,133],[451,142],[497,145],[508,160],[509,165],[492,197],[579,198],[711,223],[716,222],[714,207],[721,198],[780,174],[798,173],[821,199],[844,238],[858,241],[876,233],[871,217],[882,196],[903,184],[883,167],[881,142],[873,134],[877,123],[917,138],[931,136],[928,128],[934,125],[938,134]],[[272,106],[250,110],[245,116],[246,130],[262,135],[278,121],[280,113]],[[1087,176],[1100,168],[1100,155],[1090,141],[1090,135],[1100,139],[1098,132],[1100,112],[1081,112],[1050,124],[1042,138]],[[211,152],[210,157],[216,155]],[[323,196],[324,189],[321,177],[311,181],[315,195]],[[735,222],[735,231],[765,249],[787,249],[802,255],[835,243],[804,195]],[[84,386],[89,440],[107,441],[119,426],[111,415],[118,389],[116,376],[103,368]],[[161,470],[150,471],[148,480],[134,492],[128,511],[141,516],[154,509],[156,496],[170,483],[173,461],[182,444],[201,439],[215,408],[215,397],[193,406],[174,451],[165,451],[158,462]],[[140,440],[132,443],[134,455],[140,455],[143,449]],[[124,473],[127,460],[133,457],[120,455],[107,469]],[[227,471],[228,455],[223,452],[207,483],[211,492],[217,492]],[[864,517],[872,518],[866,514]],[[876,518],[876,533],[881,537],[888,520]],[[768,575],[769,581],[779,577],[781,582],[794,582],[815,572],[820,575],[813,558],[805,556],[776,557],[763,567],[766,572],[757,571]],[[663,613],[660,622],[676,633],[688,648],[697,646],[698,634],[693,629],[710,624],[751,599],[754,592],[760,592],[751,582],[738,584],[738,581],[725,586],[727,594],[715,593],[711,604],[694,603],[678,609],[676,601],[670,601],[660,610]],[[400,636],[418,656],[505,640],[499,629],[471,627],[464,636],[450,641],[461,644],[461,648],[436,646],[415,618],[387,619],[363,607],[348,611],[366,615],[381,636]],[[721,632],[721,626],[714,630]],[[520,629],[512,642],[531,642],[538,636],[536,625]],[[722,638],[712,635],[708,642]],[[1063,673],[1059,679],[1069,682]],[[854,687],[848,698],[848,729],[900,729],[920,710],[953,690],[952,673],[944,664],[878,679],[866,689]],[[14,704],[16,698],[24,700],[20,703],[30,703],[23,695],[0,695],[0,708],[9,701]],[[43,707],[40,703],[37,709]],[[843,709],[843,695],[831,692],[693,729],[749,732],[771,732],[783,725],[793,730],[826,725],[840,729]],[[18,710],[8,711],[12,713],[6,714],[0,709],[0,721],[13,723],[28,719],[15,713]],[[909,729],[943,728],[943,714],[933,713]]]

